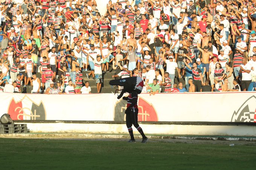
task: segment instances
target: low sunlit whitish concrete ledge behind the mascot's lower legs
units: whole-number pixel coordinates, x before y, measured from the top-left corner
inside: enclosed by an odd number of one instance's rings
[[[24,122],[25,123],[25,122]],[[85,133],[128,134],[126,125],[110,123],[26,123],[35,133]],[[251,125],[183,125],[140,123],[145,134],[162,135],[207,135],[207,136],[256,136],[256,126]],[[134,134],[139,134],[133,127]]]

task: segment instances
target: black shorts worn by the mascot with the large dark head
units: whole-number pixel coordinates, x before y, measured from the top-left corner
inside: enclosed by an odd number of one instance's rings
[[[138,108],[129,108],[126,109],[126,126],[130,128],[134,125],[135,128],[139,127],[138,124]]]

